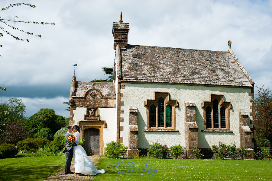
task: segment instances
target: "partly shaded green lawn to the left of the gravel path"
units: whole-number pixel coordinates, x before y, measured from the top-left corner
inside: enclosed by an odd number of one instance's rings
[[[1,159],[1,180],[45,180],[65,160],[66,156]]]

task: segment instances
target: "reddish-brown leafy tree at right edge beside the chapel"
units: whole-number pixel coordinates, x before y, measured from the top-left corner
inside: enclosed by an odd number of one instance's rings
[[[257,86],[256,86],[257,87]],[[271,154],[271,138],[272,138],[272,99],[271,88],[264,89],[264,86],[257,87],[258,97],[255,99],[255,116],[256,116],[256,134],[257,138],[268,139],[270,144]]]

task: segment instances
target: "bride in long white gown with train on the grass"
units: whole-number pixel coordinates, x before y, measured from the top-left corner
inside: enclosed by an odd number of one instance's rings
[[[83,175],[96,175],[98,173],[105,173],[105,170],[97,170],[96,166],[87,157],[86,151],[82,146],[80,146],[80,128],[78,125],[73,126],[74,136],[76,137],[76,142],[78,146],[73,147],[73,158],[75,173],[81,173]]]

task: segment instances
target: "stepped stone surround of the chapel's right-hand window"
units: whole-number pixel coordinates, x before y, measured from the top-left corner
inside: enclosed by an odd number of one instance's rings
[[[213,122],[213,101],[218,100],[219,102],[219,128],[214,128],[214,122]],[[206,109],[210,106],[212,108],[212,128],[206,127]],[[210,100],[209,101],[203,101],[201,103],[201,107],[204,109],[203,111],[203,118],[204,118],[204,130],[201,130],[201,132],[233,132],[229,128],[229,113],[230,109],[232,109],[232,104],[230,102],[224,102],[224,95],[222,94],[210,94]],[[225,107],[225,116],[226,116],[226,128],[221,128],[221,107]]]

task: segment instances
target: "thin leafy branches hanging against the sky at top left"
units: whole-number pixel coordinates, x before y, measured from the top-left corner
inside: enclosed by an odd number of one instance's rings
[[[9,5],[5,8],[2,8],[0,11],[1,11],[1,15],[3,14],[3,11],[8,11],[8,9],[10,8],[15,8],[16,6],[21,6],[21,5],[25,5],[25,6],[30,6],[31,8],[35,8],[36,6],[35,5],[31,5],[31,4],[28,4],[28,3],[15,3],[15,4],[12,4],[12,5]],[[15,16],[14,17],[14,20],[10,20],[10,19],[4,19],[2,16],[0,18],[0,21],[1,21],[1,31],[7,33],[8,35],[10,35],[11,37],[15,38],[16,40],[21,40],[21,41],[24,41],[26,40],[27,42],[29,41],[28,39],[22,39],[22,38],[19,38],[19,37],[16,37],[15,35],[11,34],[10,32],[8,32],[8,30],[6,30],[4,28],[5,27],[8,27],[8,28],[12,28],[14,30],[18,30],[20,32],[23,32],[23,33],[26,33],[28,34],[29,36],[32,35],[32,36],[36,36],[36,37],[41,37],[41,35],[35,35],[34,33],[31,33],[31,32],[27,32],[27,31],[24,31],[24,30],[20,30],[19,28],[15,27],[15,26],[12,26],[10,23],[23,23],[23,24],[51,24],[51,25],[55,25],[55,23],[47,23],[47,22],[37,22],[37,21],[18,21],[16,20],[16,18],[18,18],[18,16]],[[1,32],[1,35],[0,37],[3,37],[3,33]],[[2,45],[1,45],[2,47]]]

